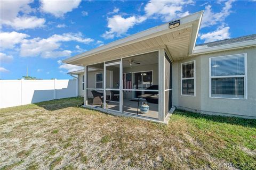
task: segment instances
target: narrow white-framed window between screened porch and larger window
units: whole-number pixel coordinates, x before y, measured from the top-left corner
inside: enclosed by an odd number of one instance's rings
[[[181,95],[196,96],[195,65],[196,61],[181,64]]]

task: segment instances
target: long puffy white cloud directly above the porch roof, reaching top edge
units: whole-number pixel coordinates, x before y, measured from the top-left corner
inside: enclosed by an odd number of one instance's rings
[[[179,18],[185,15],[188,15],[189,12],[183,12],[183,6],[188,4],[194,4],[192,0],[189,1],[155,1],[151,0],[145,5],[145,15],[138,16],[132,15],[130,17],[124,18],[122,15],[114,15],[108,17],[109,30],[105,31],[101,37],[105,39],[111,39],[114,37],[120,37],[126,35],[126,32],[133,28],[135,24],[139,24],[148,18],[161,19],[162,21],[171,21],[175,18]],[[141,6],[143,3],[141,4]],[[113,12],[108,14],[113,14],[119,12],[119,9],[116,8]]]

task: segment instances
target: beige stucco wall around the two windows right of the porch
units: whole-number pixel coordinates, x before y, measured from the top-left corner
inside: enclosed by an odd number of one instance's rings
[[[209,58],[247,53],[247,100],[209,97]],[[196,61],[196,96],[181,96],[181,66]],[[230,50],[191,57],[173,64],[173,105],[205,114],[226,114],[256,117],[256,48]]]

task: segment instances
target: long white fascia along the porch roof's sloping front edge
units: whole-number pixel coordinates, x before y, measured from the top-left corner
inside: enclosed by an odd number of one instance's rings
[[[147,29],[145,31],[135,33],[134,35],[131,35],[131,36],[113,41],[112,43],[94,48],[94,49],[89,50],[85,53],[78,54],[76,56],[67,58],[66,60],[63,60],[62,62],[63,63],[68,63],[68,62],[71,62],[71,61],[76,61],[78,59],[81,59],[81,58],[84,58],[84,57],[87,57],[87,56],[99,54],[99,53],[106,52],[106,51],[114,49],[114,48],[122,47],[124,45],[129,45],[129,44],[132,44],[132,43],[136,43],[138,41],[149,39],[149,38],[152,38],[152,37],[156,37],[156,36],[162,35],[162,34],[167,33],[167,32],[172,32],[172,31],[175,31],[175,30],[183,29],[184,27],[187,26],[186,25],[187,23],[198,20],[198,19],[201,19],[202,14],[203,14],[203,11],[199,11],[197,13],[190,14],[190,15],[184,16],[183,18],[177,19],[177,20],[180,20],[180,27],[170,29],[169,28],[169,22],[168,22],[168,23],[159,25],[157,27],[153,27],[153,28]]]

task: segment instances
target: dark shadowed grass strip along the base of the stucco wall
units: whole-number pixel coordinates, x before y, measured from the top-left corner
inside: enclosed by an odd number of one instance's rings
[[[249,128],[256,128],[256,119],[241,118],[235,116],[205,115],[176,109],[175,115],[186,116],[189,118],[203,118],[208,121],[241,125]]]

